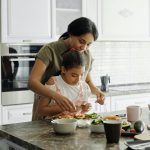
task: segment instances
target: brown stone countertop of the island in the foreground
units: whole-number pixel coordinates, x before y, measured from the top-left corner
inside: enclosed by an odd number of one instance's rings
[[[114,112],[114,113],[122,113]],[[150,123],[150,112],[143,109],[142,120]],[[147,129],[145,129],[147,132]],[[150,131],[148,131],[150,132]],[[77,128],[74,134],[55,134],[50,123],[45,121],[32,121],[19,124],[0,126],[0,137],[6,138],[28,150],[100,150],[100,149],[126,149],[124,142],[131,140],[121,137],[119,144],[106,144],[105,134],[90,133],[89,128]]]

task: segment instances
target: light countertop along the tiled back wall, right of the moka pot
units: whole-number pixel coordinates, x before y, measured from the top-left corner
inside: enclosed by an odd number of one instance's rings
[[[106,96],[121,96],[121,95],[150,93],[150,83],[110,86],[109,91],[104,93]]]

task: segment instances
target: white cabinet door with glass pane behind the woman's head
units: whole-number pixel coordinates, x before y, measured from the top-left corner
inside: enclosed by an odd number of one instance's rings
[[[53,36],[67,31],[68,24],[86,15],[86,0],[53,0]]]

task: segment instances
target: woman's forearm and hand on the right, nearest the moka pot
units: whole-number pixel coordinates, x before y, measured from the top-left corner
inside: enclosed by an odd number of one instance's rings
[[[97,102],[99,104],[104,104],[104,100],[105,100],[105,95],[102,91],[100,91],[100,89],[98,89],[94,83],[92,82],[90,73],[88,73],[87,77],[86,77],[86,82],[89,85],[92,94],[97,96]]]

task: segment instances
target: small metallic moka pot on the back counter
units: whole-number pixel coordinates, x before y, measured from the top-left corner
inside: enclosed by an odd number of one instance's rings
[[[109,91],[109,83],[110,83],[110,76],[101,76],[101,90],[104,92]]]

